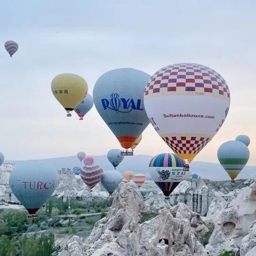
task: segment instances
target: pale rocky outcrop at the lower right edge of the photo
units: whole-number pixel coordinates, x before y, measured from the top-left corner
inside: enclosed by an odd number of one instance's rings
[[[246,252],[245,248],[248,247],[246,244],[252,243],[249,243],[250,235],[248,234],[254,234],[253,223],[256,219],[255,185],[252,187],[236,191],[221,211],[219,218],[215,221],[209,244],[206,246],[210,255],[217,256],[223,251],[237,252],[240,246],[241,255],[245,255],[242,251]]]

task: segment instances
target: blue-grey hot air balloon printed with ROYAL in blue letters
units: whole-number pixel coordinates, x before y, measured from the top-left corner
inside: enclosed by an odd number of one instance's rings
[[[149,124],[143,104],[149,77],[137,69],[119,68],[103,74],[95,83],[95,107],[125,149],[132,147]]]

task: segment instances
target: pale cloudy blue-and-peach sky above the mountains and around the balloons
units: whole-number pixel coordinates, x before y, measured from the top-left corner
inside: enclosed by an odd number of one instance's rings
[[[0,151],[6,159],[104,155],[119,142],[95,107],[66,118],[53,97],[60,73],[84,77],[89,93],[106,71],[131,67],[152,75],[179,62],[217,70],[231,93],[228,117],[195,161],[218,162],[218,147],[251,138],[256,165],[256,2],[174,0],[8,1],[0,9]],[[19,50],[9,58],[4,42]],[[171,152],[151,124],[135,154]]]

